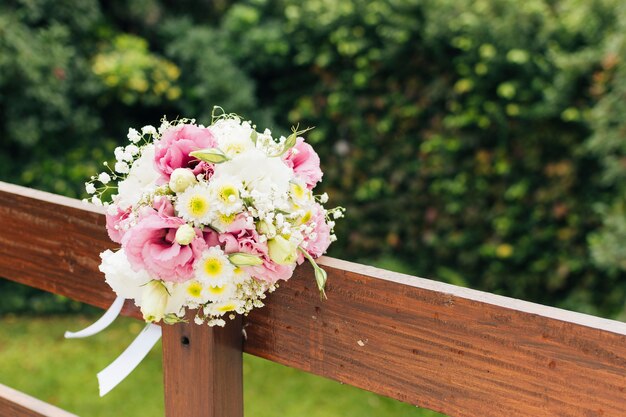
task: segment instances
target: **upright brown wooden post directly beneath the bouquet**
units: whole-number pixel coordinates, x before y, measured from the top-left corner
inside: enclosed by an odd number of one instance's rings
[[[241,317],[163,325],[166,417],[243,417]]]

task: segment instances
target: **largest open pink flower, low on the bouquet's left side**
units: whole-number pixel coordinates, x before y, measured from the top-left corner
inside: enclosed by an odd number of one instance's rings
[[[184,282],[194,275],[194,261],[207,248],[199,230],[189,245],[175,241],[176,231],[185,222],[173,217],[171,203],[163,198],[157,210],[148,209],[140,214],[139,223],[126,232],[122,248],[135,271],[146,270],[152,277],[164,281]]]

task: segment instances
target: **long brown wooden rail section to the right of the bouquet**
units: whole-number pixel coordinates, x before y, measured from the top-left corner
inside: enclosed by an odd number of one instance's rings
[[[451,416],[626,416],[626,324],[323,258],[244,350]]]

